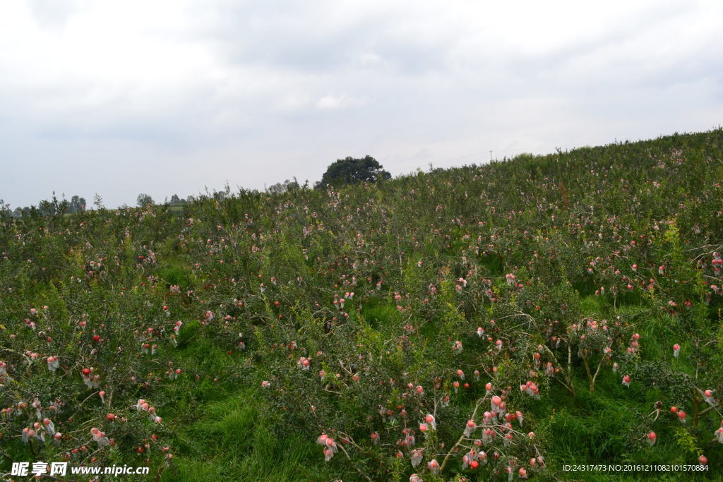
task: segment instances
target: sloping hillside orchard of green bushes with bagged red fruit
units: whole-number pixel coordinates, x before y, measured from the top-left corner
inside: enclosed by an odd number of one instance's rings
[[[6,216],[0,472],[719,478],[722,182],[717,129]]]

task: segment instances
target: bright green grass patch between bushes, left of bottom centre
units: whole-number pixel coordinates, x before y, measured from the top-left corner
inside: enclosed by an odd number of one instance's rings
[[[241,379],[244,355],[229,356],[202,333],[198,322],[184,325],[175,358],[185,376],[166,388],[163,407],[173,413],[174,461],[163,481],[333,480],[320,447],[288,431],[275,436],[262,417],[254,390],[230,390]],[[195,379],[195,371],[218,374]],[[337,461],[338,462],[338,461]],[[341,470],[339,471],[341,474]]]

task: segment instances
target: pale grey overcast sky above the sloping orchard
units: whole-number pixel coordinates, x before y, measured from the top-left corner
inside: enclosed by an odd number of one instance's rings
[[[107,207],[722,124],[723,1],[0,2],[0,198]]]

